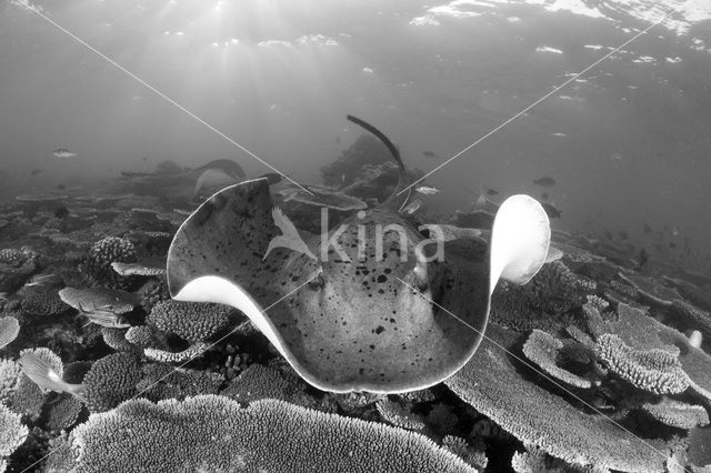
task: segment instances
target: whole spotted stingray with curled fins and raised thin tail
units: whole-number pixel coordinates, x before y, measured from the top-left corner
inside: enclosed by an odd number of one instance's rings
[[[349,120],[374,132],[398,161],[400,184],[390,199],[306,241],[310,254],[278,246],[264,258],[281,235],[268,181],[226,188],[178,230],[168,255],[170,293],[241,310],[318,389],[424,389],[471,359],[499,278],[522,284],[538,272],[549,221],[535,200],[514,195],[499,209],[488,245],[480,238],[441,239],[444,258],[429,261],[437,239],[428,242],[431,235],[399,211],[408,193],[398,192],[409,179],[397,148],[368,123]]]

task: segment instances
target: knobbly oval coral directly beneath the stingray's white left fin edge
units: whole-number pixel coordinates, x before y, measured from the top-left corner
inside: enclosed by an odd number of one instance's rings
[[[169,300],[156,304],[147,322],[189,342],[203,342],[229,325],[232,312],[229,305]]]

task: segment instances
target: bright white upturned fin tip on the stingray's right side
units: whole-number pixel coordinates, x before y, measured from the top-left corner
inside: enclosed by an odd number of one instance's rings
[[[499,278],[525,284],[545,262],[551,241],[548,214],[529,195],[511,195],[502,204],[493,222],[490,243],[489,292]]]

